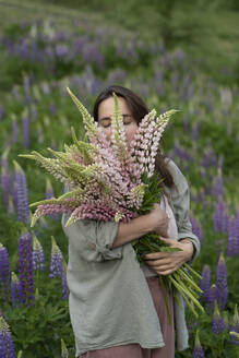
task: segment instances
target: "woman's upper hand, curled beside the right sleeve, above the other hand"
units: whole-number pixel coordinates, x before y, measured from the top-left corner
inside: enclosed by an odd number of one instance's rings
[[[154,204],[154,208],[150,212],[148,218],[152,223],[153,231],[156,231],[163,237],[168,236],[168,215],[160,208],[159,204]]]

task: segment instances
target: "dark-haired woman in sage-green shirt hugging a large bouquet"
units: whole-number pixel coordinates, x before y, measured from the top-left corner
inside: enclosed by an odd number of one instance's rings
[[[94,118],[110,140],[112,93],[119,99],[128,146],[148,112],[143,100],[128,88],[110,86],[96,99]],[[68,285],[71,323],[80,358],[172,358],[188,347],[183,302],[167,293],[169,322],[158,275],[168,275],[200,251],[189,219],[188,183],[172,160],[160,153],[156,170],[164,178],[162,203],[130,223],[79,220],[64,227],[69,238]],[[131,241],[157,231],[182,251],[145,255],[140,267]]]

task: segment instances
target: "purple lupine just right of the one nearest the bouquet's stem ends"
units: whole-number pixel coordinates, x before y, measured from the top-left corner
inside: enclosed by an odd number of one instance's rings
[[[227,288],[227,265],[223,253],[219,256],[216,267],[216,286],[218,288],[218,306],[224,309],[227,305],[228,288]]]

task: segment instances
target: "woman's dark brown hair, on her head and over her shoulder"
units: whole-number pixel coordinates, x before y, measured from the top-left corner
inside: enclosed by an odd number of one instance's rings
[[[112,86],[109,86],[106,90],[104,90],[95,100],[95,105],[93,108],[93,116],[94,116],[95,121],[98,121],[99,104],[103,100],[111,97],[113,93],[118,97],[122,97],[123,99],[126,99],[126,102],[131,110],[131,114],[132,114],[133,118],[138,121],[138,123],[140,123],[141,120],[144,118],[144,116],[146,116],[148,114],[148,108],[140,96],[138,96],[135,93],[133,93],[129,88],[126,88],[126,87],[122,87],[119,85],[112,85]],[[167,158],[162,154],[160,148],[158,148],[158,153],[157,153],[156,160],[155,160],[155,168],[156,168],[157,172],[160,175],[160,177],[164,179],[164,183],[170,188],[174,186],[174,179],[172,179],[170,171],[167,168],[166,159]]]

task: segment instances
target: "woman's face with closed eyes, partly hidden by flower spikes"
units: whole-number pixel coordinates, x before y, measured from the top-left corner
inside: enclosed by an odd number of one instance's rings
[[[118,97],[119,107],[123,117],[123,124],[128,147],[138,131],[138,122],[133,118],[124,98]],[[111,138],[111,118],[113,114],[113,97],[104,99],[98,106],[98,123],[103,128],[107,140]]]

